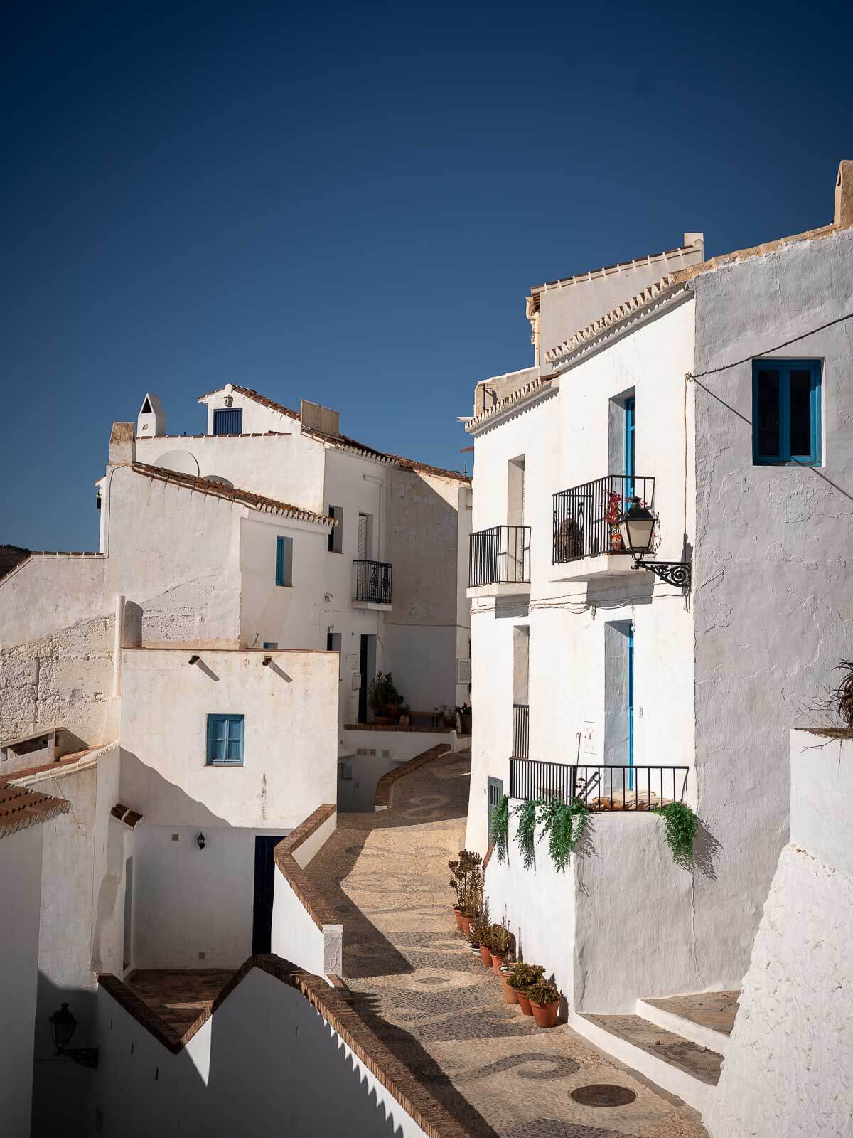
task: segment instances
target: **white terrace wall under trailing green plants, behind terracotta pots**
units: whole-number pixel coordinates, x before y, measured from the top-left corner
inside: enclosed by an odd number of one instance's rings
[[[516,834],[511,815],[510,860],[500,865],[492,851],[486,871],[491,920],[515,934],[528,963],[554,976],[572,1022],[575,1012],[632,1013],[644,996],[709,987],[689,951],[693,877],[674,864],[662,818],[590,815],[562,873],[541,827],[532,869],[523,866]]]

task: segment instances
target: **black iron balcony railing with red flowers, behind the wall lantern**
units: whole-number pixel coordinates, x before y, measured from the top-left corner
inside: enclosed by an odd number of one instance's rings
[[[655,480],[638,475],[607,475],[554,495],[553,563],[627,553],[613,520],[624,512],[626,498],[637,496],[654,509]]]

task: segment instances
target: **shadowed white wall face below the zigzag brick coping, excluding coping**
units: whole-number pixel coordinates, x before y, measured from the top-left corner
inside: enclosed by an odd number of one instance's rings
[[[213,1133],[425,1138],[380,1081],[288,984],[252,970],[172,1055],[99,991],[105,1136],[180,1125]]]

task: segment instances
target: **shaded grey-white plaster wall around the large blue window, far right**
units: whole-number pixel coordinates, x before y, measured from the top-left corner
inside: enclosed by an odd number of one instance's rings
[[[738,987],[788,840],[787,732],[850,659],[853,234],[802,241],[695,281],[696,766],[719,842],[696,884],[703,987]],[[752,462],[751,357],[823,360],[822,465]],[[699,386],[702,385],[702,386]]]

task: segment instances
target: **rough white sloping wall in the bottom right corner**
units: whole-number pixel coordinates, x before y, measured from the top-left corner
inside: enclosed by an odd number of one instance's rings
[[[853,1118],[853,739],[790,733],[790,844],[764,905],[713,1138],[848,1136]]]

